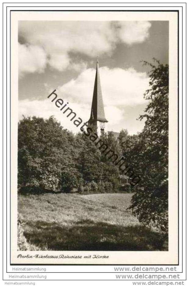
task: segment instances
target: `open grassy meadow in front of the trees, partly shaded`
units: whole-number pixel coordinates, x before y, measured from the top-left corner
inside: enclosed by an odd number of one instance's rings
[[[24,235],[41,250],[167,250],[127,210],[132,194],[19,195]]]

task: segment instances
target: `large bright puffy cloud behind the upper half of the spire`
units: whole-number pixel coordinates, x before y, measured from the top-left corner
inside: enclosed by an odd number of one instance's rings
[[[59,94],[74,102],[91,104],[94,87],[95,70],[84,70],[76,79],[59,87]],[[143,104],[144,91],[149,87],[146,73],[130,68],[100,68],[102,94],[105,106],[127,106]]]

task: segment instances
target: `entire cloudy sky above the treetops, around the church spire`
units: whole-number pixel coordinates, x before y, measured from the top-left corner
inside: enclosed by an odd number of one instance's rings
[[[148,102],[149,67],[169,63],[168,21],[19,21],[19,120],[54,115],[64,128],[78,128],[47,97],[56,89],[88,121],[97,55],[106,130],[137,134]]]

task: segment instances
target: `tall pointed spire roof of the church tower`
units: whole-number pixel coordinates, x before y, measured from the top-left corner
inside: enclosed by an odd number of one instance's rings
[[[104,103],[102,99],[102,90],[101,90],[100,75],[98,68],[98,56],[96,65],[96,76],[94,81],[93,100],[91,106],[91,116],[89,122],[90,121],[108,122],[108,120],[106,120],[105,118],[105,113],[104,113]]]

